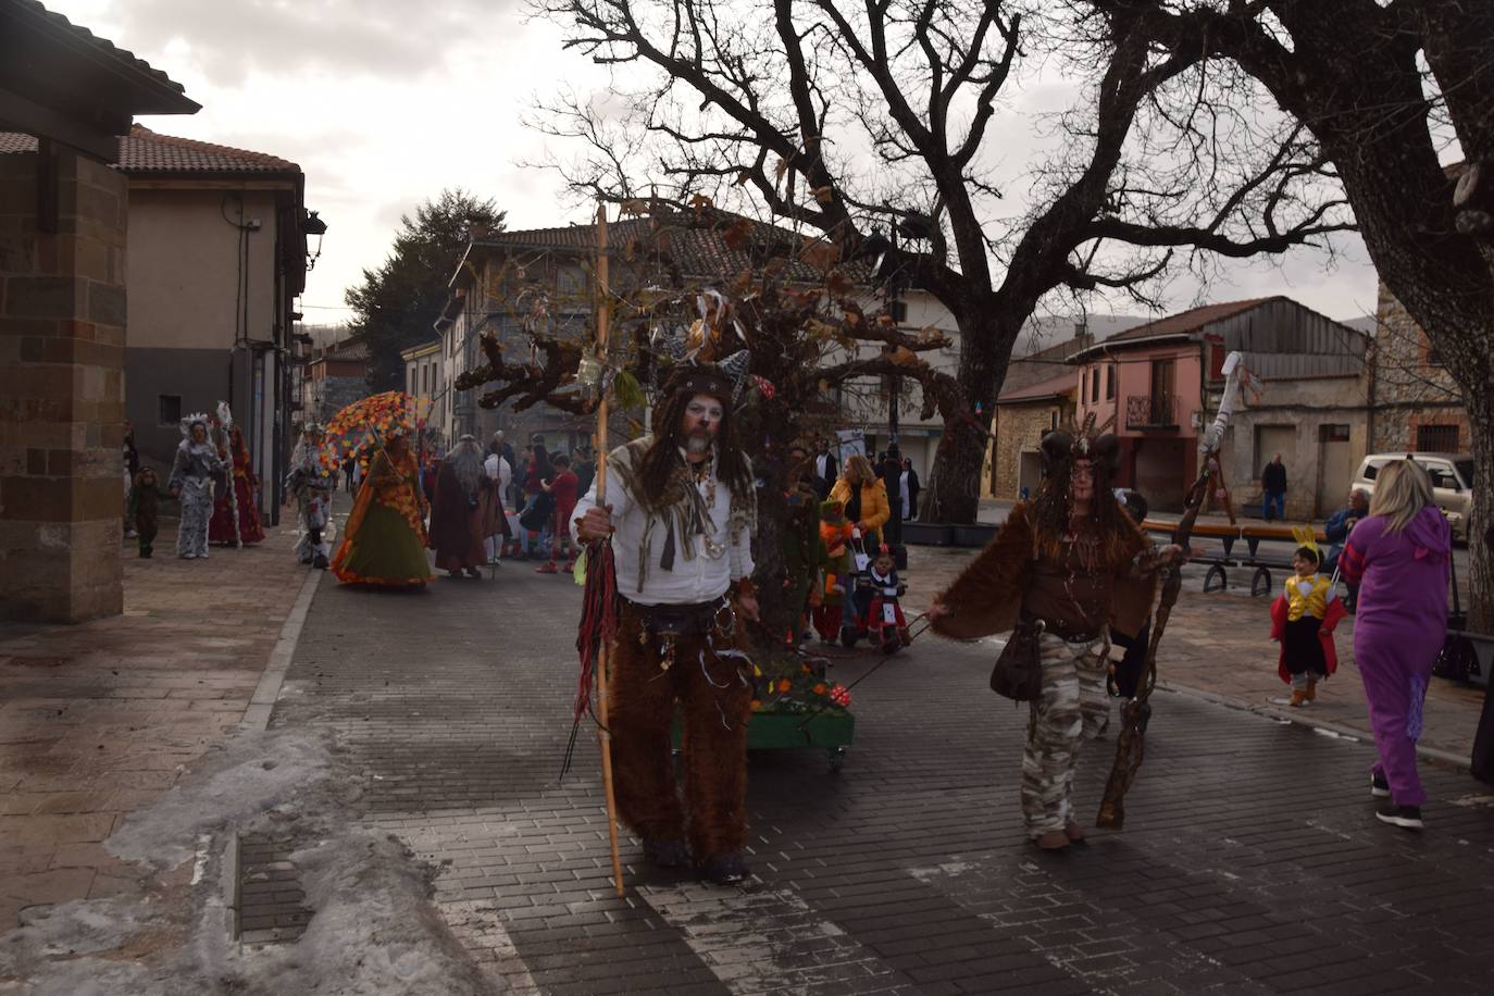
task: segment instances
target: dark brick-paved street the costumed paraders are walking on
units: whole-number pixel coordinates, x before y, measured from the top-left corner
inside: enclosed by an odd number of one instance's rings
[[[324,587],[272,717],[339,733],[365,823],[442,866],[441,912],[495,987],[1475,993],[1494,972],[1494,794],[1467,775],[1428,766],[1428,830],[1406,833],[1373,818],[1364,744],[1161,693],[1125,832],[1044,856],[1020,835],[1025,712],[985,690],[994,645],[934,638],[856,688],[841,774],[753,756],[748,887],[651,871],[624,835],[619,900],[590,736],[557,782],[577,588],[498,575]],[[1080,765],[1086,820],[1112,753]]]

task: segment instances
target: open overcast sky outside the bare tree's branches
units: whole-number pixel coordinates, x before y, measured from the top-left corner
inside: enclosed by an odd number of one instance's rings
[[[203,106],[142,118],[146,127],[302,166],[306,206],[329,225],[302,302],[308,323],[348,317],[344,290],[385,258],[400,214],[442,187],[493,197],[509,227],[580,220],[559,203],[554,175],[520,166],[547,151],[520,118],[535,94],[602,90],[607,78],[562,51],[554,25],[526,22],[521,0],[43,3],[164,70]],[[1373,312],[1363,246],[1346,239],[1342,252],[1333,272],[1298,252],[1280,266],[1231,266],[1206,288],[1183,278],[1168,305],[1288,294],[1333,318]],[[1140,314],[1128,303],[1113,311]]]

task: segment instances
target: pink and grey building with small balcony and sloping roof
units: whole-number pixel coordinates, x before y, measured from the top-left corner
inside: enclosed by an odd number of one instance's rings
[[[1324,467],[1352,460],[1354,426],[1366,414],[1366,339],[1288,297],[1204,305],[1076,352],[1068,361],[1079,367],[1077,418],[1094,412],[1100,424],[1112,423],[1119,485],[1141,491],[1152,508],[1180,508],[1198,473],[1200,427],[1213,418],[1221,369],[1236,349],[1264,385],[1258,403],[1242,405],[1222,446],[1236,505],[1258,500],[1259,470],[1282,452],[1288,517],[1310,518],[1348,487]],[[1363,429],[1358,436],[1363,451]]]

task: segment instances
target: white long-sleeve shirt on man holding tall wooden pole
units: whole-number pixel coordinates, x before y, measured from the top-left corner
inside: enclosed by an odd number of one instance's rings
[[[720,555],[713,557],[705,545],[704,536],[690,536],[687,542],[695,544],[695,555],[686,557],[680,548],[683,538],[675,536],[674,567],[665,570],[659,566],[663,555],[663,545],[668,539],[668,521],[654,521],[653,535],[648,538],[647,572],[642,590],[638,590],[639,545],[644,529],[648,524],[648,512],[644,511],[633,496],[623,487],[620,475],[614,473],[620,461],[626,461],[629,454],[626,446],[619,446],[608,454],[607,463],[607,500],[613,506],[613,560],[617,567],[617,593],[629,602],[639,605],[696,605],[710,602],[726,594],[732,581],[750,578],[753,572],[751,533],[748,529],[738,530],[732,538],[728,532],[728,518],[732,512],[732,491],[726,484],[714,481],[716,505],[710,509],[714,541],[723,547]],[[714,476],[714,470],[711,472]],[[696,487],[705,497],[713,481],[701,481]],[[577,502],[572,512],[571,536],[575,538],[578,520],[596,506],[596,481],[586,496]]]

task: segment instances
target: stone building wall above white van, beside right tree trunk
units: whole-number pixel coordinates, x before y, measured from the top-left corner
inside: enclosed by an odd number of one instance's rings
[[[1469,412],[1427,333],[1380,284],[1370,351],[1371,452],[1469,452]]]

